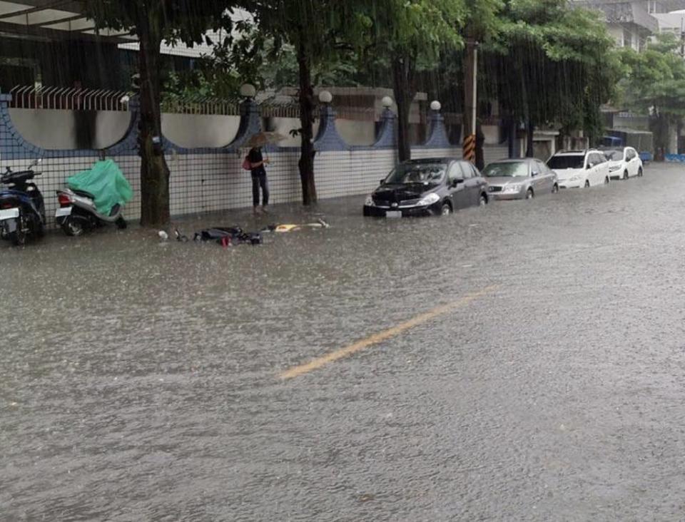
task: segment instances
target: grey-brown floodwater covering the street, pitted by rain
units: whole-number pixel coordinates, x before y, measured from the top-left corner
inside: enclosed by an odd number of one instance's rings
[[[363,200],[178,222],[331,225],[259,247],[0,245],[0,520],[683,518],[684,167]]]

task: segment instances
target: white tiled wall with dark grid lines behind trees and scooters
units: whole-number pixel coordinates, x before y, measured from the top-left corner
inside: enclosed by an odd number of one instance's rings
[[[506,148],[486,148],[486,159],[506,156]],[[415,149],[415,158],[459,157],[460,148]],[[293,203],[302,197],[298,172],[298,151],[270,153],[268,180],[270,203]],[[362,195],[378,185],[378,181],[395,165],[395,150],[347,150],[321,152],[315,157],[315,181],[320,199],[338,198],[346,195]],[[138,156],[127,155],[113,158],[133,187],[134,196],[126,206],[126,217],[140,217],[140,165]],[[86,170],[96,160],[94,157],[46,158],[41,164],[43,175],[36,178],[36,185],[44,194],[46,214],[52,222],[57,206],[55,190],[64,187],[69,175]],[[169,154],[171,170],[171,214],[184,215],[208,213],[252,205],[252,181],[249,171],[243,170],[242,155],[217,151],[205,154]],[[14,169],[26,168],[30,160],[17,160],[7,164]],[[3,167],[5,164],[3,163]]]

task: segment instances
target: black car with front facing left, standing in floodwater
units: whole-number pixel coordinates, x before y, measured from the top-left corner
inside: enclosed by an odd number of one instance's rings
[[[487,182],[471,163],[429,158],[400,163],[366,199],[364,215],[400,218],[447,215],[487,205]]]

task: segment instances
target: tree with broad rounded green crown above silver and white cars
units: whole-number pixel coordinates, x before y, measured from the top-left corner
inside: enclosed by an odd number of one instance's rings
[[[599,108],[612,97],[619,70],[596,13],[566,0],[506,0],[487,51],[499,102],[526,123],[527,155],[539,123],[599,132]]]

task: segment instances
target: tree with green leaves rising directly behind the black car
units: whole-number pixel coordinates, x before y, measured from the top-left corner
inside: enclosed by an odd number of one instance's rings
[[[390,63],[397,103],[397,152],[400,161],[408,160],[409,117],[417,93],[417,71],[435,68],[442,53],[463,45],[460,30],[467,16],[466,2],[377,0],[367,3],[364,12],[370,28],[370,43],[365,44]]]

